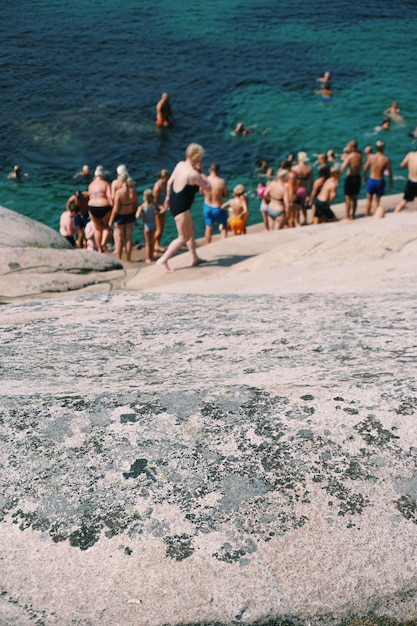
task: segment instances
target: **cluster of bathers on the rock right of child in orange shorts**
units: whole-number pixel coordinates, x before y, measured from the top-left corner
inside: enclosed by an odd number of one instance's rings
[[[259,183],[257,194],[261,198],[260,211],[267,230],[336,221],[330,205],[336,198],[343,173],[346,174],[343,184],[345,219],[356,217],[362,182],[366,187],[365,217],[385,215],[381,198],[385,194],[386,179],[392,186],[393,174],[382,140],[376,141],[375,152],[367,146],[362,153],[357,141],[351,140],[339,158],[332,150],[319,154],[316,174],[308,161],[305,152],[299,152],[297,160],[289,155],[280,163],[275,176],[268,170],[267,184]],[[417,151],[410,151],[400,165],[408,168],[408,178],[403,199],[395,207],[397,213],[417,197]],[[264,167],[267,167],[265,162]],[[310,221],[308,209],[311,209]]]

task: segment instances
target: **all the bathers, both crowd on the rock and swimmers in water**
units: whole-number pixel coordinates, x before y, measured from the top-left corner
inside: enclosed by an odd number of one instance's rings
[[[329,72],[317,80],[322,92],[330,92]],[[396,102],[383,114],[387,122],[403,122]],[[163,93],[156,104],[155,123],[157,126],[169,126],[172,121],[169,95]],[[247,134],[244,131],[245,127],[239,123],[232,134]],[[126,260],[131,261],[133,231],[139,220],[143,228],[146,263],[156,262],[164,271],[171,272],[169,259],[186,245],[192,265],[199,265],[203,260],[196,252],[191,216],[196,194],[203,196],[205,241],[209,244],[215,226],[222,238],[227,237],[228,233],[246,233],[248,195],[251,193],[246,191],[243,184],[238,184],[229,196],[227,183],[220,176],[217,162],[210,165],[207,174],[204,172],[203,154],[204,150],[199,144],[190,144],[184,160],[177,163],[172,174],[166,169],[158,172],[153,187],[145,189],[140,201],[135,182],[124,164],[116,168],[113,180],[110,180],[101,165],[95,168],[93,177],[89,166],[84,165],[74,175],[74,179],[83,181],[87,189],[78,190],[68,198],[66,210],[60,217],[60,233],[73,247],[98,252],[105,252],[111,241],[117,258],[122,260],[125,253]],[[259,164],[256,170],[259,177],[256,196],[260,199],[259,208],[266,230],[336,221],[331,203],[336,198],[343,174],[345,218],[353,220],[356,217],[362,182],[366,185],[367,194],[365,216],[384,216],[380,200],[385,193],[386,178],[392,186],[393,175],[391,160],[385,154],[385,143],[382,140],[376,141],[375,152],[371,146],[362,152],[357,141],[352,139],[340,155],[328,150],[316,156],[315,163],[310,164],[304,151],[297,155],[289,154],[279,163],[276,171],[266,161]],[[408,169],[408,178],[396,212],[403,210],[407,202],[417,196],[417,151],[410,151],[401,167]],[[20,179],[25,176],[27,173],[15,165],[8,178]],[[168,210],[174,218],[177,236],[164,248],[161,240]]]

